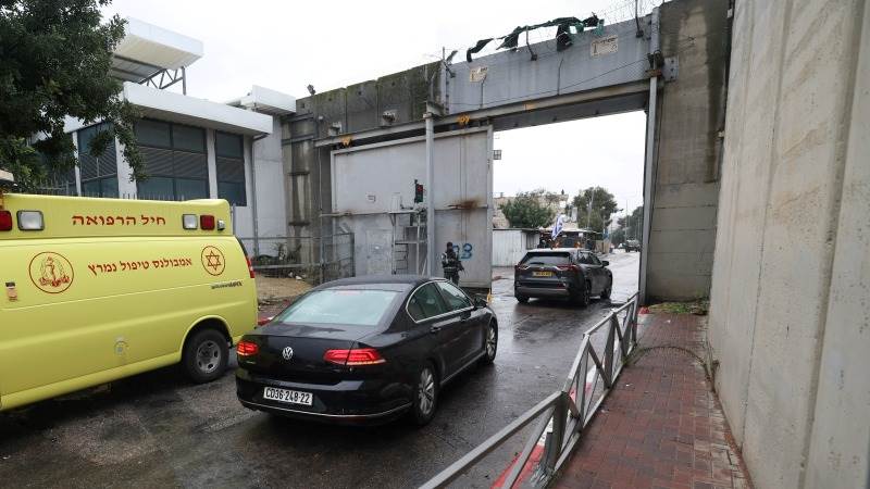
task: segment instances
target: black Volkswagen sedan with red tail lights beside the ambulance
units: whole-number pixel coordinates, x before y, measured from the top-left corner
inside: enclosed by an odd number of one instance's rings
[[[428,423],[442,386],[492,363],[498,325],[447,280],[358,277],[316,287],[238,342],[241,404],[332,423],[408,413]]]

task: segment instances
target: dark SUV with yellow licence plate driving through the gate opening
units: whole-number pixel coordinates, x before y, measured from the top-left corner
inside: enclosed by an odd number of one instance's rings
[[[609,264],[575,248],[530,250],[514,267],[513,297],[520,302],[562,298],[586,306],[592,296],[610,297],[613,274]]]

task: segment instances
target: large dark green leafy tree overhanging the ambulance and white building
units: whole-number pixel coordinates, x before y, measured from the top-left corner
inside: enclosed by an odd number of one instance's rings
[[[136,110],[109,74],[124,37],[117,15],[101,23],[100,8],[110,2],[0,2],[0,168],[12,172],[23,190],[76,164],[73,139],[63,131],[66,115],[111,123],[80,151],[100,155],[116,137],[133,178],[145,177],[133,130]]]

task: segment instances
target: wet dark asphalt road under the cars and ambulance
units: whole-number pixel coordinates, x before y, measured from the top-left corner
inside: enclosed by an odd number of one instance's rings
[[[612,301],[637,287],[638,253],[610,254]],[[585,329],[607,312],[518,304],[497,268],[495,365],[442,392],[433,423],[336,427],[248,411],[232,372],[191,386],[174,368],[0,414],[2,487],[417,487],[561,386]],[[231,366],[235,366],[232,362]],[[489,487],[521,450],[518,436],[457,486]]]

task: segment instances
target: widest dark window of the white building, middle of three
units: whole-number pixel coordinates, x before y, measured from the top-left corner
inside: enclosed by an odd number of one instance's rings
[[[189,200],[209,197],[206,130],[200,127],[141,120],[136,139],[147,179],[137,181],[140,199]]]

